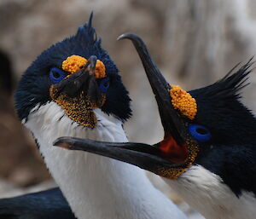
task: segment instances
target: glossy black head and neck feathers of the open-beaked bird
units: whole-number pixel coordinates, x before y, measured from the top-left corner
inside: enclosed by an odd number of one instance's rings
[[[240,101],[252,64],[235,72],[236,66],[217,83],[189,92],[198,108],[193,123],[212,133],[212,140],[201,144],[196,164],[220,176],[237,196],[242,191],[256,195],[256,118]]]

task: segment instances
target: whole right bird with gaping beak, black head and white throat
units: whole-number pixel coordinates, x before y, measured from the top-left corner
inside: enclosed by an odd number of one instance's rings
[[[164,177],[210,219],[256,215],[256,119],[240,99],[252,61],[201,89],[170,85],[142,38],[126,33],[140,56],[157,101],[165,135],[154,145],[62,137],[56,146],[96,153]]]

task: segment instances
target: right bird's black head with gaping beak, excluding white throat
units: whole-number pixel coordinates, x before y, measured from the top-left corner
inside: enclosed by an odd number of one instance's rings
[[[170,85],[148,54],[143,40],[124,34],[135,45],[157,101],[163,141],[110,143],[62,138],[56,145],[102,154],[135,164],[157,175],[177,179],[200,164],[236,193],[256,189],[256,119],[240,99],[252,62],[232,69],[218,82],[189,92]]]

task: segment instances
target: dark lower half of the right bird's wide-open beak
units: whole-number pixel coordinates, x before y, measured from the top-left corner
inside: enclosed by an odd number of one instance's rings
[[[163,169],[186,167],[183,162],[174,164],[168,160],[168,157],[160,150],[158,145],[151,146],[137,142],[92,141],[74,137],[58,138],[53,145],[114,158],[156,174],[159,174],[160,170]]]

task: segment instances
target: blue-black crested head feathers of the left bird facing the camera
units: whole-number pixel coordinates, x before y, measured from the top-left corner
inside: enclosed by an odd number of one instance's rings
[[[96,31],[92,27],[92,17],[91,13],[89,21],[84,26],[79,26],[78,32],[74,36],[44,50],[23,74],[15,93],[15,107],[20,120],[26,119],[35,106],[41,106],[51,101],[49,71],[53,67],[61,69],[62,62],[71,55],[79,55],[87,60],[91,55],[96,55],[97,59],[104,63],[111,85],[106,93],[107,101],[102,107],[102,111],[113,114],[123,121],[131,117],[131,99],[128,91],[122,84],[119,71],[108,52],[102,49],[101,39],[96,37]]]

